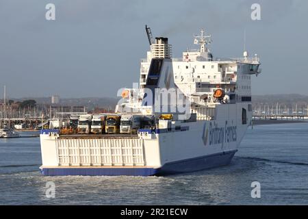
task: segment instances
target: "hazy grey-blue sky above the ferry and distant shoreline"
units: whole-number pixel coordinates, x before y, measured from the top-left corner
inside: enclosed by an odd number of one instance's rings
[[[201,28],[214,57],[242,57],[246,31],[248,53],[261,58],[253,94],[307,94],[307,12],[307,0],[0,0],[0,86],[11,98],[116,97],[139,80],[149,25],[173,57],[194,48]]]

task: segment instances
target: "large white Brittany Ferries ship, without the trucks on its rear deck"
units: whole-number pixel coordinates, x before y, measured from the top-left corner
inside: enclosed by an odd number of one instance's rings
[[[146,34],[150,51],[141,60],[138,86],[120,92],[115,110],[149,118],[146,125],[131,134],[41,130],[43,175],[169,175],[231,162],[251,124],[251,77],[261,73],[259,57],[244,51],[241,58],[215,58],[202,29],[194,36],[198,49],[172,58],[168,38],[153,39],[149,27]]]

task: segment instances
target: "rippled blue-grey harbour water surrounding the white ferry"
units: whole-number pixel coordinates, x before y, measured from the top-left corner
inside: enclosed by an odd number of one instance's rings
[[[39,138],[0,139],[0,205],[308,204],[308,123],[250,127],[229,166],[183,175],[42,177],[40,163]]]

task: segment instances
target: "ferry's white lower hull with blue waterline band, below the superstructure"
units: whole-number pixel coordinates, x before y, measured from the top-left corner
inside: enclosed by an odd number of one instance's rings
[[[149,176],[227,165],[248,127],[237,113],[243,105],[221,105],[216,120],[181,123],[177,130],[140,129],[133,137],[65,138],[55,134],[56,130],[43,130],[40,169],[43,175]]]

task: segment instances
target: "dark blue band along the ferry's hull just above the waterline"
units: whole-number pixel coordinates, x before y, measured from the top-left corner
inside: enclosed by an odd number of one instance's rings
[[[153,176],[170,175],[181,172],[194,172],[218,166],[224,166],[231,162],[237,151],[218,153],[192,159],[180,160],[164,164],[161,168],[42,168],[45,176]]]

